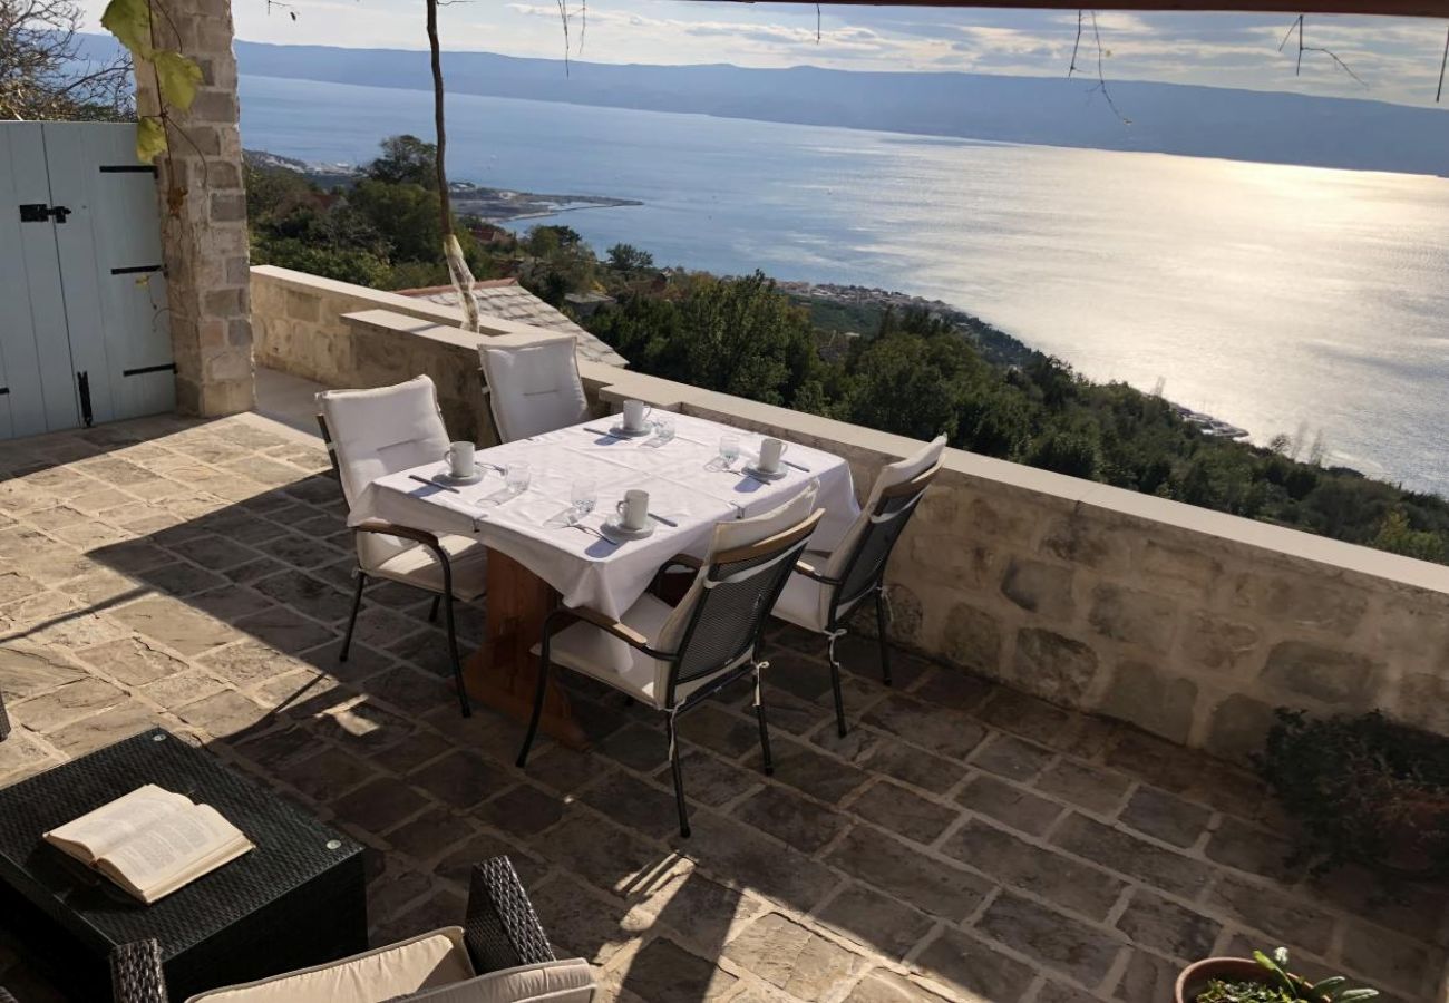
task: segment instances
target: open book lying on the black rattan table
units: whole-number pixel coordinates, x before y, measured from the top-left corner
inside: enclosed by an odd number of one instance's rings
[[[155,784],[51,829],[45,841],[148,904],[254,848],[210,804]]]

